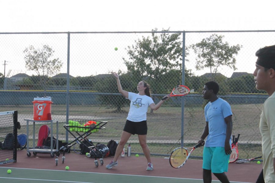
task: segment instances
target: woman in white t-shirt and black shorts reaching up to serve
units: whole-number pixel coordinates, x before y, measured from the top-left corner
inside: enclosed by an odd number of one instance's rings
[[[167,99],[160,100],[159,103],[155,104],[153,99],[151,98],[150,86],[145,81],[140,81],[138,83],[138,87],[137,87],[138,94],[136,94],[136,93],[123,90],[119,81],[119,75],[116,72],[111,72],[111,73],[116,78],[119,93],[121,93],[124,97],[129,99],[131,103],[130,103],[130,110],[126,120],[126,124],[124,126],[122,135],[120,137],[119,144],[116,148],[114,159],[111,161],[110,164],[106,166],[106,168],[111,169],[112,167],[115,167],[118,165],[117,159],[120,153],[122,152],[124,145],[126,144],[126,142],[128,141],[131,135],[137,134],[139,139],[139,144],[141,145],[143,153],[147,159],[148,166],[146,170],[153,170],[153,165],[151,163],[151,158],[150,158],[150,149],[146,142],[146,138],[147,138],[146,113],[149,106],[151,109],[157,110],[160,108],[163,102],[165,100],[170,99],[171,96],[167,95],[168,97]]]

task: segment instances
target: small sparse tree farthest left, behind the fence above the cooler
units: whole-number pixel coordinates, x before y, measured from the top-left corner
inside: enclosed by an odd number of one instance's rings
[[[29,46],[25,48],[24,53],[27,70],[33,70],[38,74],[40,84],[46,90],[49,76],[57,74],[63,63],[59,58],[53,58],[54,51],[49,45],[43,45],[41,49]]]

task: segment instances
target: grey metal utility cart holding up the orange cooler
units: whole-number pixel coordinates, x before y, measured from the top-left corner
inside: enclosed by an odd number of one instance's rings
[[[56,121],[56,146],[58,147],[58,121],[57,120],[45,120],[45,121],[39,121],[34,119],[24,119],[27,121],[27,156],[31,156],[31,152],[33,152],[33,155],[36,155],[37,152],[47,152],[50,153],[50,156],[53,158],[53,153],[56,152],[59,156],[60,152],[58,152],[58,149],[53,149],[53,121]],[[29,121],[33,122],[33,148],[29,149]],[[35,123],[50,123],[51,124],[51,147],[50,149],[35,149]]]

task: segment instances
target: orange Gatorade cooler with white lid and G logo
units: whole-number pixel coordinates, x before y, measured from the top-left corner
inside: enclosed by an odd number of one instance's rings
[[[52,99],[51,97],[38,97],[34,98],[33,103],[33,119],[46,121],[52,120],[51,108],[52,108]]]

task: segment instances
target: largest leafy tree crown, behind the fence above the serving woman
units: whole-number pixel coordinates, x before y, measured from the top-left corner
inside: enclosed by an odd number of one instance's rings
[[[156,33],[156,31],[157,29],[152,30],[151,37],[142,36],[135,41],[135,45],[128,46],[126,49],[129,59],[123,58],[129,73],[136,77],[149,78],[149,84],[153,86],[152,93],[167,91],[167,87],[163,87],[169,83],[169,73],[173,73],[171,77],[178,73],[177,82],[180,84],[182,72],[181,33]],[[185,52],[185,56],[187,55],[188,48]],[[166,80],[163,80],[163,75],[166,76]]]

